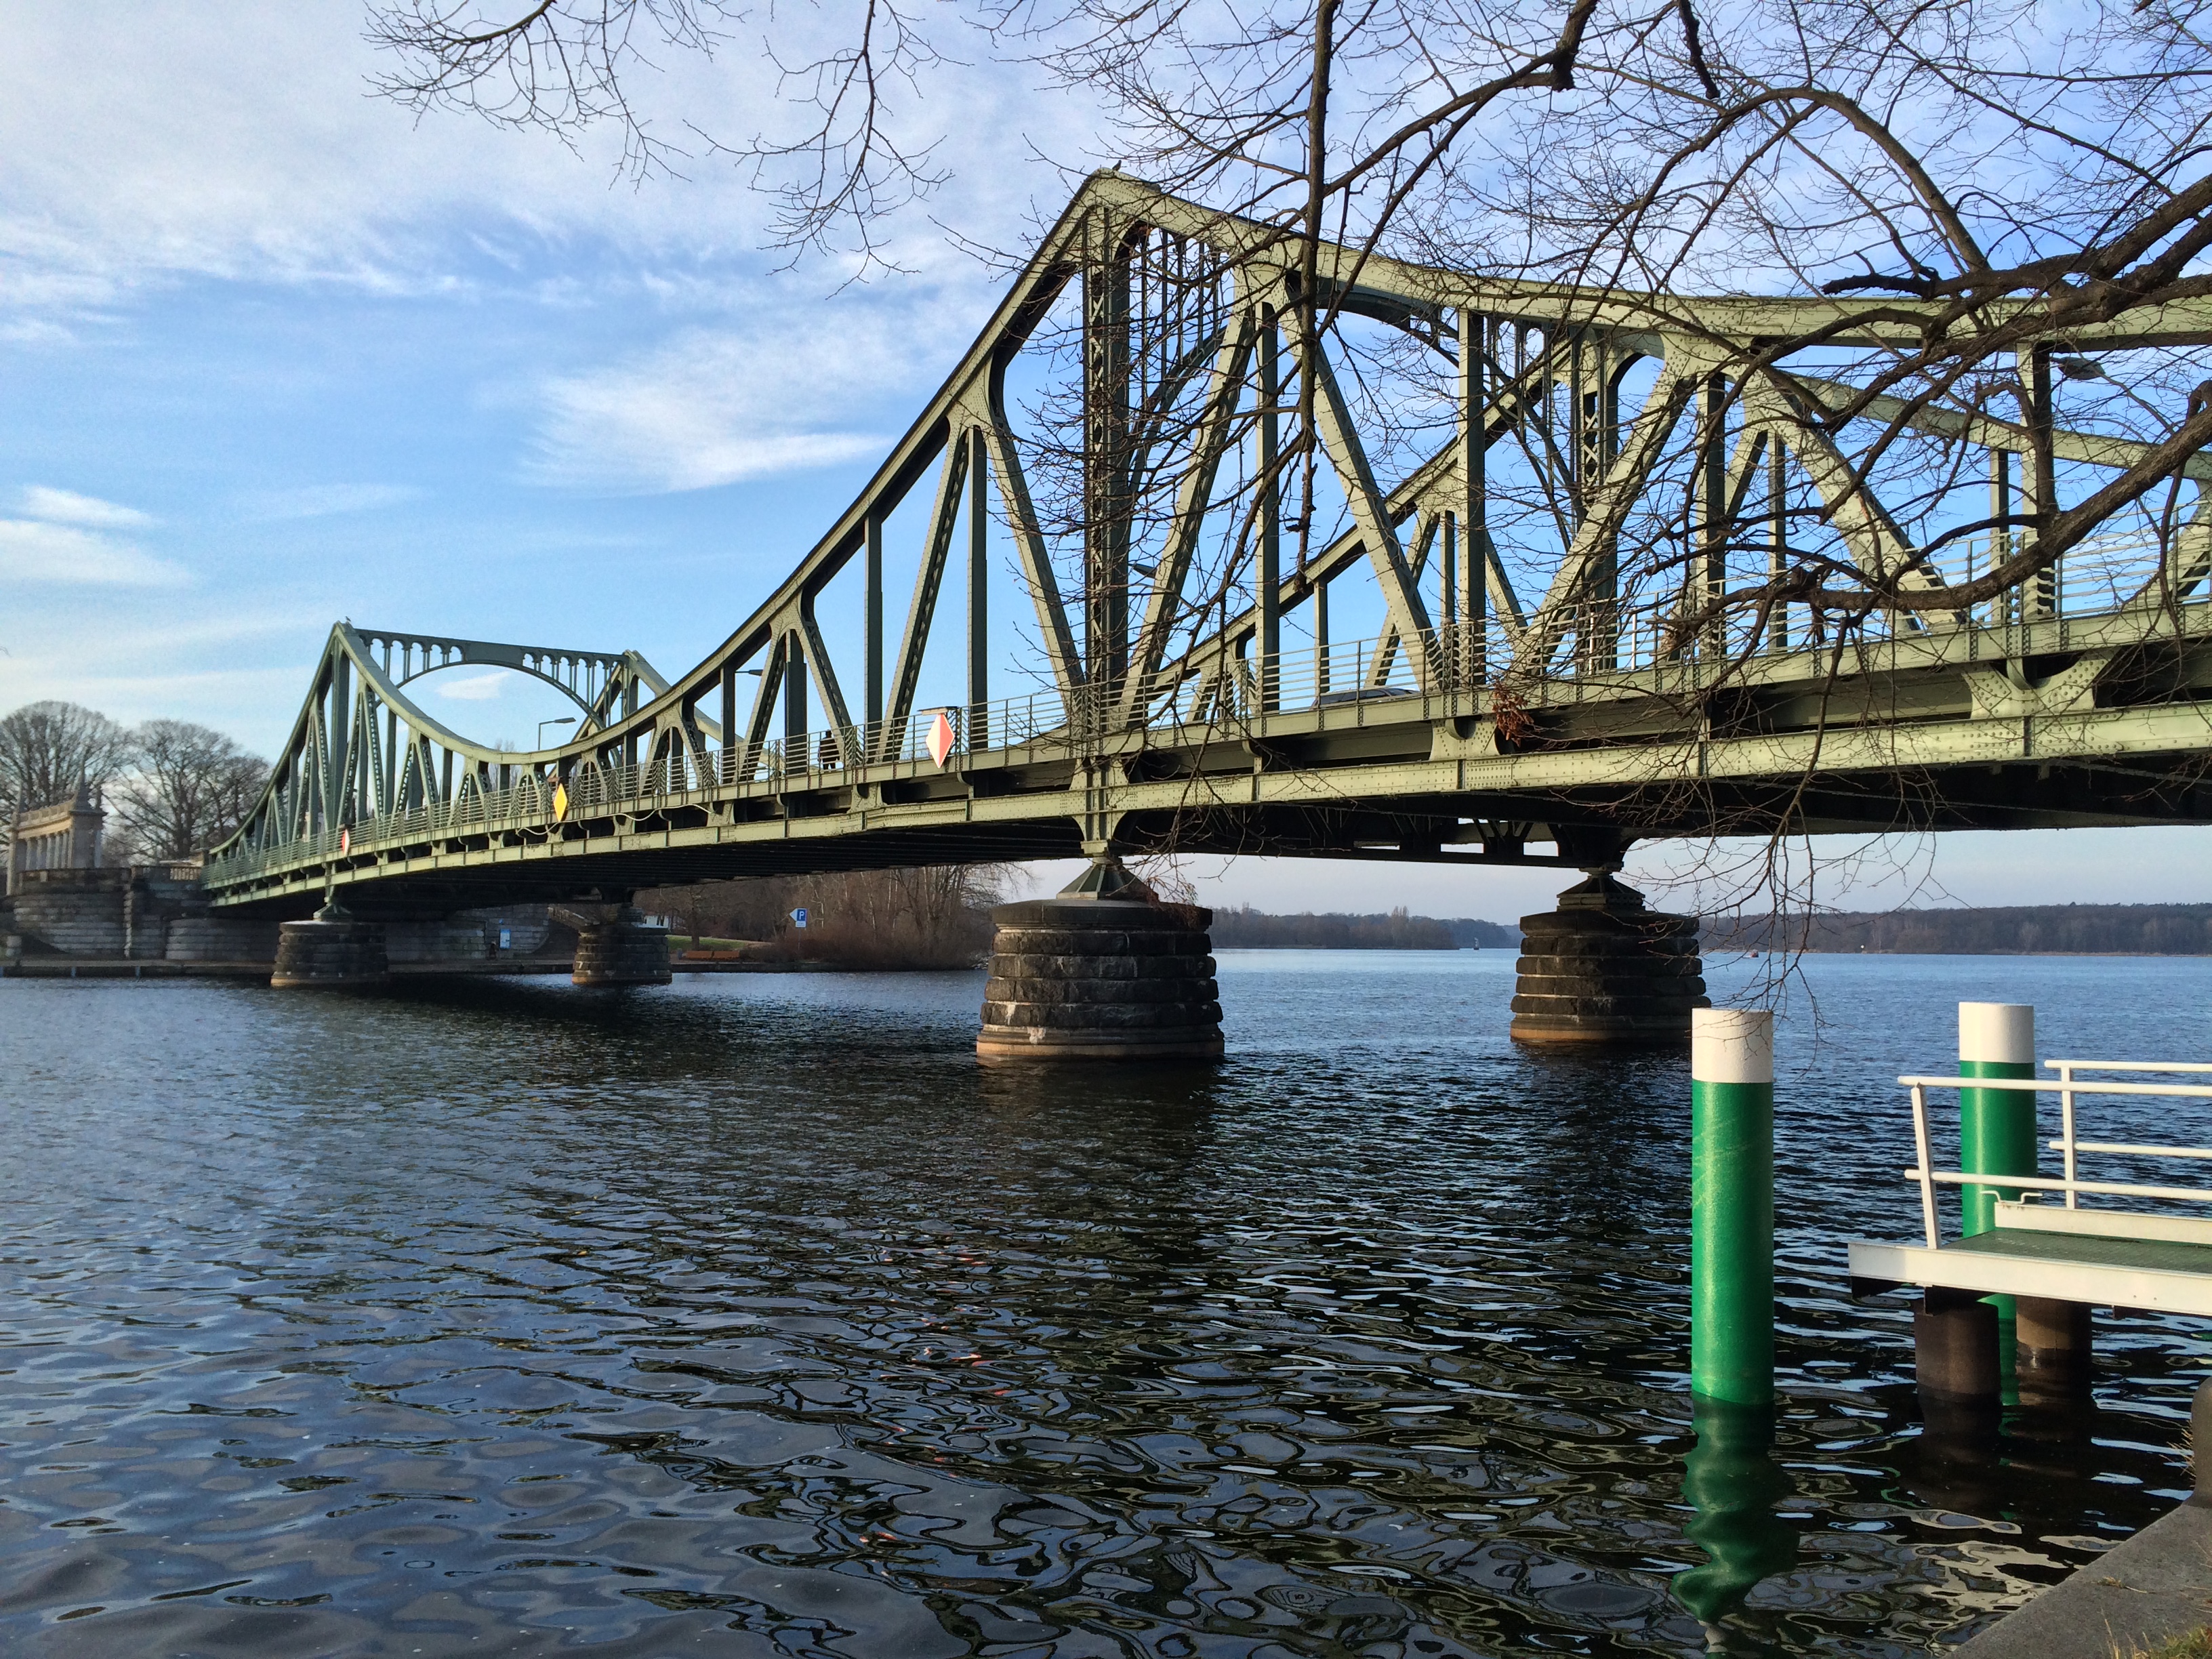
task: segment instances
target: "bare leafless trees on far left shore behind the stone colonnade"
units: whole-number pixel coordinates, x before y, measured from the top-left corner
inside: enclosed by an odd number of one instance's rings
[[[82,703],[24,703],[0,717],[0,838],[18,812],[69,801],[82,783],[108,812],[104,863],[197,858],[243,823],[268,774],[212,726],[124,726]]]

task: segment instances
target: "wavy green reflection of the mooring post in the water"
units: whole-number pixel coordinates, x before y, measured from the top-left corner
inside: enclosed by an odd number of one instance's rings
[[[1721,1619],[1743,1606],[1752,1588],[1796,1566],[1796,1526],[1774,1517],[1774,1500],[1790,1493],[1790,1475],[1774,1462],[1774,1409],[1690,1396],[1697,1447],[1690,1451],[1681,1495],[1697,1511],[1686,1528],[1708,1564],[1674,1579],[1674,1599],[1705,1626],[1705,1641],[1721,1646]]]

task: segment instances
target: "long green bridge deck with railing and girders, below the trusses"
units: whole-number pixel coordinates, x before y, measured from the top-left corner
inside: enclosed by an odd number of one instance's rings
[[[515,768],[456,801],[234,852],[210,887],[228,907],[305,914],[336,885],[361,914],[420,914],[726,876],[1075,858],[1108,836],[1126,852],[1579,865],[1590,858],[1577,832],[2208,823],[2208,635],[2212,606],[2199,602],[1885,641],[1840,672],[1829,653],[1776,653],[1730,692],[1723,730],[1697,719],[1694,664],[1577,679],[1540,688],[1517,741],[1500,739],[1489,690],[1329,697],[1312,692],[1305,653],[1281,670],[1279,701],[1305,692],[1301,706],[1082,741],[1060,726],[956,745],[942,763],[909,743],[841,765],[838,734],[816,732],[750,757],[743,743],[708,748],[690,768],[606,768],[602,787],[575,796]],[[2154,675],[2146,644],[2159,646]],[[2024,688],[2008,675],[2022,659],[2064,666]],[[1037,701],[998,703],[989,723],[1035,719]]]

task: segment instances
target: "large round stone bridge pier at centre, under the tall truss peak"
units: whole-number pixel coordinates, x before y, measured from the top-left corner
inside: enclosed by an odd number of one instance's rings
[[[1000,905],[975,1055],[1219,1060],[1214,914],[1161,905],[1102,858],[1055,898]]]

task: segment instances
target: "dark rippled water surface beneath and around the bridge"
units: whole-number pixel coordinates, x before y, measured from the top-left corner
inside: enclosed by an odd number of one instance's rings
[[[978,975],[0,984],[0,1648],[1891,1655],[2183,1495],[2185,1323],[1951,1451],[1838,1241],[1958,998],[2201,1057],[2212,962],[1807,964],[1703,1509],[1683,1062],[1515,1053],[1504,951],[1221,969],[1225,1066],[1071,1075]]]

